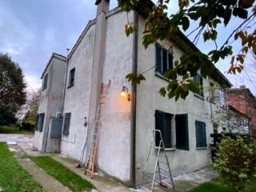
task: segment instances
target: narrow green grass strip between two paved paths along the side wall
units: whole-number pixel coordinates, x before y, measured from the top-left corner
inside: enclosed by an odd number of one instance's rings
[[[69,187],[70,190],[80,192],[94,188],[90,182],[87,182],[78,174],[75,174],[73,171],[66,168],[66,166],[63,166],[49,156],[31,157],[31,159],[38,164],[38,166],[42,167],[46,173],[58,179],[64,186]]]

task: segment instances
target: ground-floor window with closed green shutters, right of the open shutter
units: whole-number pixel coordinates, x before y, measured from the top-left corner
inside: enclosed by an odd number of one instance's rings
[[[195,121],[195,134],[197,139],[197,147],[206,147],[206,123]]]

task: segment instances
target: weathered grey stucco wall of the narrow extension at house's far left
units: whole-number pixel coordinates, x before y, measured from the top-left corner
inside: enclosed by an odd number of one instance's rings
[[[46,90],[42,90],[38,106],[38,114],[45,113],[45,119],[43,122],[42,132],[35,131],[33,143],[33,146],[40,151],[43,150],[43,137],[48,134],[48,129],[50,128],[50,118],[54,117],[56,113],[61,110],[62,90],[64,84],[63,79],[66,64],[64,59],[65,58],[59,59],[53,57],[45,72],[45,74],[48,74],[47,88]],[[49,138],[46,145],[46,151],[44,152],[58,152],[59,143],[56,139]]]

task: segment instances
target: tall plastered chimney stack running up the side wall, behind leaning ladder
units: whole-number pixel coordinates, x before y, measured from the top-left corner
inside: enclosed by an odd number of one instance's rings
[[[90,154],[90,143],[95,126],[94,119],[96,117],[99,97],[102,93],[102,73],[106,52],[106,13],[109,11],[110,0],[97,0],[95,5],[98,7],[94,34],[94,58],[91,74],[89,124],[87,128],[88,146],[86,147],[86,154]]]

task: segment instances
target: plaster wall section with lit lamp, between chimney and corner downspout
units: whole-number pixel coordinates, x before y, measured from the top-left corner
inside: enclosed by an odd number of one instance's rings
[[[132,21],[133,14],[129,14]],[[132,36],[126,37],[127,14],[119,12],[106,20],[104,84],[111,81],[102,114],[98,143],[98,167],[106,174],[128,182],[130,178],[130,102],[122,98],[122,86],[130,91],[126,74],[132,70]]]

